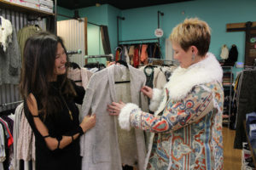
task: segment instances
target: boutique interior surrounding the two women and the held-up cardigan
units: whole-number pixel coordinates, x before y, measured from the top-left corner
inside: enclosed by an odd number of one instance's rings
[[[22,147],[31,147],[25,143],[32,143],[32,138],[20,139],[26,127],[17,123],[22,117],[17,116],[17,108],[23,102],[19,83],[28,37],[39,31],[62,37],[69,78],[84,88],[90,77],[112,61],[143,71],[146,85],[163,88],[179,66],[169,39],[172,28],[190,17],[211,27],[209,52],[223,69],[223,169],[255,169],[255,7],[255,0],[0,0],[0,27],[5,29],[0,32],[0,169],[35,169],[32,153],[20,153]],[[15,69],[11,73],[10,67]],[[84,71],[86,77],[76,77],[77,71]],[[152,72],[159,75],[158,80],[152,79]],[[124,82],[130,80],[116,83]]]

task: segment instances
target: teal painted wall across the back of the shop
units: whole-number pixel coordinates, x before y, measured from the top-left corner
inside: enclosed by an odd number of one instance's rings
[[[226,32],[226,24],[256,21],[255,7],[255,0],[195,0],[126,10],[102,5],[80,8],[79,14],[81,17],[86,16],[90,22],[108,26],[111,48],[114,53],[114,48],[117,46],[117,15],[125,17],[125,20],[119,21],[119,40],[154,38],[154,30],[157,28],[157,11],[160,10],[164,13],[164,16],[160,16],[160,28],[164,31],[164,36],[160,38],[163,55],[165,55],[165,39],[169,37],[172,28],[185,18],[198,17],[207,21],[212,28],[209,51],[219,59],[223,44],[226,44],[228,48],[236,44],[239,53],[238,61],[243,62],[245,33]],[[96,34],[96,31],[93,32]],[[90,32],[88,33],[90,35]],[[99,42],[96,39],[88,40],[88,44],[98,46]],[[102,52],[102,49],[99,51]],[[239,70],[235,69],[235,71]]]

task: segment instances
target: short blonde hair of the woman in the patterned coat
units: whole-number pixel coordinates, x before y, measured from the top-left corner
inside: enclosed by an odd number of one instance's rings
[[[207,54],[211,42],[211,28],[207,22],[198,18],[185,19],[172,29],[170,35],[172,42],[177,42],[184,51],[194,45],[198,49],[198,55]]]

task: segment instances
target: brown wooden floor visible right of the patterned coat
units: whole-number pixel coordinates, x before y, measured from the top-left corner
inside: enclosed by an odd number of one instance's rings
[[[241,150],[233,149],[235,130],[223,127],[224,170],[241,170]]]

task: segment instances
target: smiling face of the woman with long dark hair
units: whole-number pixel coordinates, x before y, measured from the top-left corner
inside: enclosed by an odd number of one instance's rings
[[[63,75],[66,73],[67,54],[61,43],[58,42],[57,51],[55,55],[55,68],[54,68],[54,78],[56,80],[58,75]]]

